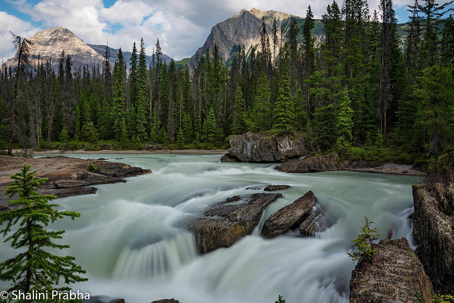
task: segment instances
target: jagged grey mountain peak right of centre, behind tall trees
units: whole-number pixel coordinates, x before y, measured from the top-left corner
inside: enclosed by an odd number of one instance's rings
[[[262,17],[265,18],[266,31],[271,41],[271,48],[273,47],[271,30],[274,18],[276,18],[277,22],[278,40],[281,38],[280,28],[282,27],[282,40],[285,41],[285,36],[290,29],[290,22],[292,21],[292,18],[294,18],[300,26],[300,32],[297,39],[299,41],[303,41],[302,26],[305,22],[305,18],[276,11],[260,11],[255,8],[250,11],[243,9],[235,16],[219,22],[211,28],[211,32],[206,38],[203,46],[199,47],[196,53],[191,57],[190,67],[194,67],[197,56],[200,58],[201,55],[206,53],[208,48],[212,54],[215,43],[219,49],[222,61],[228,65],[230,65],[231,59],[233,58],[235,52],[238,51],[240,45],[245,46],[249,54],[251,47],[256,47],[260,44],[260,26],[262,25]],[[323,22],[318,19],[314,19],[314,22],[315,26],[312,30],[312,35],[315,38],[315,46],[317,47],[323,40]],[[402,45],[404,37],[406,36],[404,27],[405,24],[398,25],[398,33],[401,36]]]

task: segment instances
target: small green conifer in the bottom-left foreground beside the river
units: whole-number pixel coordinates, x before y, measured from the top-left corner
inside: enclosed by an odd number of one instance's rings
[[[36,171],[29,170],[30,165],[24,165],[21,172],[12,175],[14,183],[5,191],[10,198],[17,195],[17,199],[10,200],[9,204],[19,208],[0,213],[0,225],[5,224],[0,232],[4,235],[5,242],[10,242],[12,248],[21,253],[0,263],[0,279],[13,282],[7,291],[21,290],[27,293],[69,290],[68,287],[56,286],[62,281],[65,284],[87,281],[87,278],[80,276],[85,270],[73,262],[74,257],[49,253],[49,249],[62,250],[69,246],[52,242],[53,239],[61,239],[64,230],[49,231],[44,228],[49,222],[53,223],[65,216],[74,220],[80,214],[59,211],[55,209],[58,204],[48,204],[48,200],[56,197],[41,196],[36,192],[36,188],[47,178],[34,178]]]

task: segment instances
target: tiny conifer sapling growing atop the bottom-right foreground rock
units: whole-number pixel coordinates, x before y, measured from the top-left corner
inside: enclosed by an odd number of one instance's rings
[[[363,258],[368,258],[372,264],[374,255],[377,253],[376,250],[372,249],[372,242],[380,237],[378,228],[371,228],[371,225],[375,222],[369,220],[368,217],[364,216],[364,226],[361,227],[361,233],[352,242],[354,243],[351,247],[356,248],[358,251],[350,254],[350,258],[353,261],[359,261]]]

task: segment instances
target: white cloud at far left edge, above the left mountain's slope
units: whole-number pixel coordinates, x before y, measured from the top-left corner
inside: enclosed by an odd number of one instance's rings
[[[6,12],[0,12],[0,55],[4,61],[13,57],[16,52],[13,50],[10,31],[18,36],[30,37],[38,30],[28,22],[24,22]]]

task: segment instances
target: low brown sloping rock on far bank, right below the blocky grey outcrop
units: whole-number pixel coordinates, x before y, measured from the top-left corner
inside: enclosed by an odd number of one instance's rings
[[[337,154],[329,154],[287,161],[274,167],[274,169],[283,172],[319,172],[343,169],[343,165]]]

